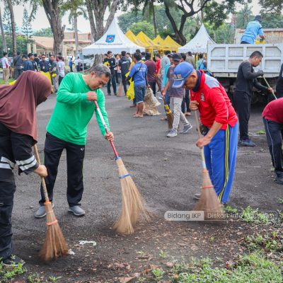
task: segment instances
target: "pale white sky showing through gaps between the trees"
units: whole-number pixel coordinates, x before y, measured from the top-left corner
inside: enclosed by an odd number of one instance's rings
[[[258,0],[253,0],[252,1],[253,5],[253,13],[257,14],[260,11],[260,6],[258,6]],[[3,15],[3,10],[4,10],[4,4],[3,1],[1,1],[0,4],[1,7],[1,13]],[[16,18],[16,25],[18,27],[21,27],[22,22],[23,22],[23,6],[13,6],[14,8],[14,13],[15,13],[15,18]],[[29,6],[27,5],[26,8],[29,9]],[[241,5],[237,6],[237,10],[241,9]],[[115,16],[119,16],[121,12],[117,12]],[[68,23],[68,16],[64,16],[62,18],[62,23],[66,25],[66,28],[71,28],[71,25]],[[50,27],[50,23],[47,20],[47,17],[45,15],[44,8],[40,7],[36,13],[35,21],[32,23],[32,28],[33,30],[40,30],[41,28],[48,28]],[[80,17],[78,19],[78,29],[81,33],[88,33],[91,32],[91,26],[89,25],[89,22],[83,19],[83,17]]]

